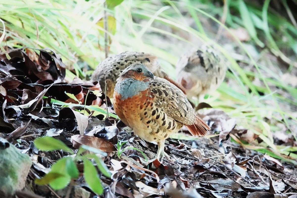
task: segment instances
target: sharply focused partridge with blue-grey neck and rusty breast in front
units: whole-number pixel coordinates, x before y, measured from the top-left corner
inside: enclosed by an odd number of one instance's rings
[[[195,115],[184,93],[175,85],[155,77],[140,63],[132,64],[116,80],[113,107],[134,133],[148,142],[157,142],[155,159],[164,156],[165,140],[186,125],[194,136],[207,133],[209,126]]]

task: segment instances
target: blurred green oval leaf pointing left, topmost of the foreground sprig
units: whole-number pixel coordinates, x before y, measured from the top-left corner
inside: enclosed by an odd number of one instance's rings
[[[67,151],[71,154],[74,154],[73,151],[61,140],[57,140],[53,137],[44,136],[37,138],[34,140],[34,144],[36,148],[41,151],[56,151],[56,150],[63,150]]]

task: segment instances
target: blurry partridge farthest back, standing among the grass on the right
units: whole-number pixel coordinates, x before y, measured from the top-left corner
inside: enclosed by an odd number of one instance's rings
[[[214,49],[203,45],[181,56],[176,64],[177,82],[188,98],[201,99],[216,90],[225,78],[227,65]]]

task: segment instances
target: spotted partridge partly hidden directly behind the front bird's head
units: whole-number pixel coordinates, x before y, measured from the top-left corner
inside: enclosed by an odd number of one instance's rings
[[[119,77],[119,74],[129,65],[134,63],[145,64],[155,76],[165,78],[181,88],[178,84],[176,84],[176,82],[170,79],[165,72],[161,70],[160,64],[157,61],[157,56],[144,52],[128,51],[106,58],[93,72],[91,81],[98,80],[102,91],[105,91],[106,81],[106,95],[109,98],[112,98],[114,86],[116,85],[116,79]]]

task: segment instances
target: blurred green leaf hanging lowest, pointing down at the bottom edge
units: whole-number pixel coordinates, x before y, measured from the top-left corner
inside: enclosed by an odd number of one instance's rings
[[[103,193],[103,187],[101,185],[97,170],[88,159],[83,159],[83,175],[85,177],[86,183],[94,193]]]

